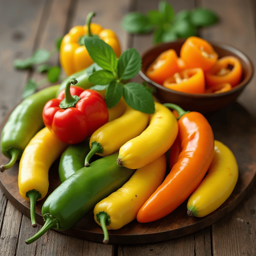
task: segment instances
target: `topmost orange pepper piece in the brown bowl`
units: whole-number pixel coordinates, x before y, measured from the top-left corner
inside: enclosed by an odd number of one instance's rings
[[[182,45],[180,58],[185,62],[186,68],[209,71],[216,63],[218,54],[206,40],[191,36]]]

